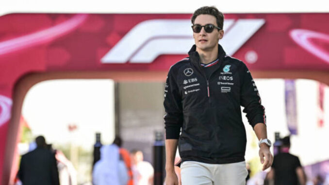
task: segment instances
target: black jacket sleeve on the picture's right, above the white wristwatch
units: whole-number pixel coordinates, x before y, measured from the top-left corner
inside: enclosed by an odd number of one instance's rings
[[[240,103],[244,107],[243,112],[247,113],[249,124],[252,127],[257,123],[266,124],[265,108],[250,71],[244,63],[240,67],[239,73],[241,78]]]

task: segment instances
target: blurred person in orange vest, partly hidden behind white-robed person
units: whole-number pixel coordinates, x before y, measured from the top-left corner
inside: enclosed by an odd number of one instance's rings
[[[119,147],[120,159],[125,162],[127,172],[128,172],[128,182],[127,185],[133,185],[133,178],[132,178],[132,160],[130,156],[130,152],[126,149],[122,148],[122,139],[120,136],[116,135],[113,141],[113,144]]]

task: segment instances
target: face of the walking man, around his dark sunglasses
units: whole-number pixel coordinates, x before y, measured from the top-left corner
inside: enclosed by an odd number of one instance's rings
[[[194,24],[199,24],[201,26],[207,24],[214,24],[218,27],[216,23],[216,17],[212,15],[199,15],[194,21]],[[193,32],[193,38],[196,43],[196,46],[199,50],[213,50],[214,47],[218,44],[218,40],[223,38],[224,31],[218,30],[217,28],[214,29],[212,33],[207,33],[202,27],[200,33]]]

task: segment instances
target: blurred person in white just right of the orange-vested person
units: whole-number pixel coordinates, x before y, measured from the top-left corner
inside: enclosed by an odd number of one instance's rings
[[[132,173],[134,185],[153,185],[154,168],[144,161],[143,152],[132,150]]]

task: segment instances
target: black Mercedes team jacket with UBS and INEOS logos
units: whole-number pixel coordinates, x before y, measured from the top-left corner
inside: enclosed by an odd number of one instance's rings
[[[165,84],[165,138],[179,139],[181,157],[240,162],[247,143],[240,105],[252,127],[265,124],[264,107],[246,65],[226,55],[220,45],[218,58],[209,79],[195,45],[189,57],[170,67]]]

